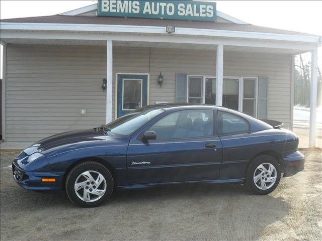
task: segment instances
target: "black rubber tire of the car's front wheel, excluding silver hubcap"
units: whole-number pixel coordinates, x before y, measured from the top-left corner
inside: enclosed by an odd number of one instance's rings
[[[76,194],[76,191],[74,190],[74,185],[77,177],[81,175],[83,172],[86,171],[94,171],[98,172],[103,175],[105,178],[105,183],[106,184],[106,191],[101,196],[98,200],[93,201],[93,202],[87,202],[79,198]],[[95,184],[94,184],[95,185]],[[98,188],[98,187],[97,187]],[[107,199],[110,198],[112,195],[114,188],[114,183],[113,183],[113,176],[110,173],[110,171],[103,166],[102,164],[98,162],[93,162],[93,161],[88,161],[88,162],[83,162],[75,166],[70,170],[66,177],[66,182],[65,182],[65,190],[67,193],[68,198],[76,205],[81,206],[81,207],[97,207],[100,206],[102,203],[104,203]],[[84,189],[85,190],[85,189]],[[93,196],[93,194],[91,195]],[[95,197],[95,195],[94,195]]]

